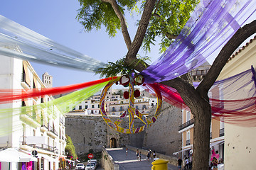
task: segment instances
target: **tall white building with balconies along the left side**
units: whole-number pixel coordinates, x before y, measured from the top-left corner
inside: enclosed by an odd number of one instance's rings
[[[41,89],[46,88],[29,62],[0,56],[0,89]],[[53,100],[52,96],[28,98],[24,101],[0,104],[0,108],[20,108],[21,106],[36,106]],[[48,114],[51,109],[53,114]],[[0,149],[16,148],[20,152],[32,155],[38,153],[33,169],[59,168],[59,159],[65,158],[65,117],[58,108],[28,111],[26,114],[8,113],[0,119]],[[9,163],[1,162],[2,169],[7,169]],[[21,169],[21,163],[11,163],[11,169]]]

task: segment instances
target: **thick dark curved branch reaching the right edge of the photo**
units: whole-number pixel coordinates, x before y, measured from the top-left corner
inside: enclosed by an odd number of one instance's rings
[[[256,33],[256,20],[243,26],[242,28],[239,28],[235,35],[233,35],[233,37],[227,42],[214,60],[213,65],[206,74],[206,77],[196,89],[201,96],[206,96],[208,94],[210,87],[213,86],[229,57],[242,44],[242,42],[244,42],[250,37],[250,35],[254,33]]]

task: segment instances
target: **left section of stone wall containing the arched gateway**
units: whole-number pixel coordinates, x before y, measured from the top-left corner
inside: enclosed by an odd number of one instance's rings
[[[116,118],[110,118],[113,122]],[[140,120],[135,120],[137,125]],[[129,125],[124,122],[122,127]],[[101,152],[102,147],[124,147],[125,145],[133,145],[134,147],[142,147],[144,133],[122,134],[112,130],[106,125],[105,121],[99,115],[75,115],[67,114],[65,118],[66,134],[71,137],[75,151],[79,155],[86,154],[90,149],[95,152]],[[115,145],[112,145],[112,142]]]

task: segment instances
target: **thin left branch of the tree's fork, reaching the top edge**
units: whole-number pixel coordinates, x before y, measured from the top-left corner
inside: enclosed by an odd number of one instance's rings
[[[131,40],[131,38],[129,36],[129,32],[128,32],[128,29],[127,29],[127,24],[125,22],[124,15],[119,10],[119,6],[117,4],[117,1],[115,1],[115,0],[102,0],[102,1],[110,3],[112,8],[114,9],[114,13],[116,13],[117,17],[119,18],[119,20],[121,22],[122,35],[124,37],[124,42],[127,45],[127,49],[129,50],[129,48],[132,45],[132,40]]]

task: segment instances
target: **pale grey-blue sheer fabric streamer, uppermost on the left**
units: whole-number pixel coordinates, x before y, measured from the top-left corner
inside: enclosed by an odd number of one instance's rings
[[[104,62],[60,45],[0,15],[0,55],[95,72]],[[4,45],[4,46],[2,46]]]

